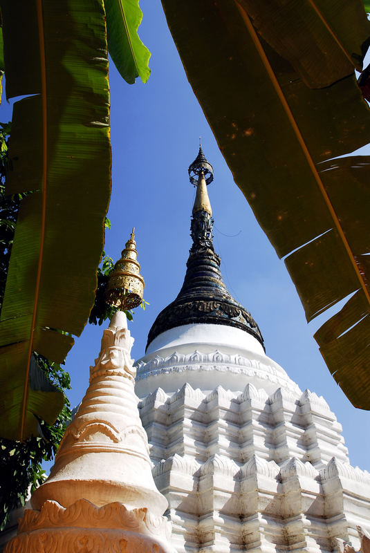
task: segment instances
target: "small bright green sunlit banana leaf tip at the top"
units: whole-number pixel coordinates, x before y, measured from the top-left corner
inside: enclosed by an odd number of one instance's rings
[[[138,37],[142,11],[138,0],[104,0],[108,50],[120,75],[129,84],[147,82],[150,52]]]

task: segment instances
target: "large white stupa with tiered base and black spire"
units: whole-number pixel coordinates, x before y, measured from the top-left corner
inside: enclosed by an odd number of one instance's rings
[[[265,355],[223,283],[199,149],[193,245],[178,297],[157,317],[136,394],[180,552],[331,552],[370,527],[370,474],[349,464],[323,397]]]

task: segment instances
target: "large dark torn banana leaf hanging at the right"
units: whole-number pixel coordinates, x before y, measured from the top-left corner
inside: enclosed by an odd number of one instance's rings
[[[370,142],[354,69],[370,42],[360,0],[162,0],[187,77],[234,180],[308,321],[355,292],[315,334],[337,383],[370,409]],[[345,353],[345,355],[344,355]]]

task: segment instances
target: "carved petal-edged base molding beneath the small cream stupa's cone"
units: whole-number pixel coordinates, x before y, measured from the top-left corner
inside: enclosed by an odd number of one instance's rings
[[[118,502],[62,507],[47,500],[40,511],[26,509],[18,532],[4,553],[174,553],[167,518]]]

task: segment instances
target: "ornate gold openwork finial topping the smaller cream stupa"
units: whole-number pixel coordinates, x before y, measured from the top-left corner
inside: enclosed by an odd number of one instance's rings
[[[122,250],[121,258],[115,263],[109,277],[107,301],[120,310],[140,306],[145,283],[140,274],[140,263],[137,261],[135,227]]]

